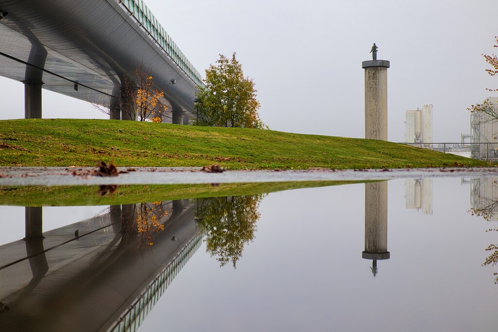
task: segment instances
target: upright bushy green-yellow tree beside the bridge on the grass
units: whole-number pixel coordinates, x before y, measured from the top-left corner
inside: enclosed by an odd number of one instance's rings
[[[220,54],[217,65],[206,69],[206,88],[196,93],[196,125],[267,128],[258,114],[254,81],[244,77],[235,53],[232,59]]]

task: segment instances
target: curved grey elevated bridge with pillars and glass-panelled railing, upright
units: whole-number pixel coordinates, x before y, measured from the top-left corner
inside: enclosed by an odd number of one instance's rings
[[[202,77],[142,0],[0,0],[0,16],[0,75],[24,84],[25,118],[42,117],[43,88],[132,119],[124,80],[140,65],[151,68],[173,123],[193,115]]]

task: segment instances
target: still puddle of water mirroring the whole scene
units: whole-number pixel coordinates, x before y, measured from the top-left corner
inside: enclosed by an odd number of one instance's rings
[[[337,184],[0,206],[0,330],[496,331],[497,179]]]

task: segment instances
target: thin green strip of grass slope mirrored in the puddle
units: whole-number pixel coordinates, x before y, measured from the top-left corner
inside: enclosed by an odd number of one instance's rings
[[[195,185],[125,185],[106,196],[98,195],[98,186],[0,187],[1,205],[13,206],[86,206],[118,205],[143,202],[242,196],[298,188],[337,186],[368,181],[303,181],[274,183],[195,184]]]

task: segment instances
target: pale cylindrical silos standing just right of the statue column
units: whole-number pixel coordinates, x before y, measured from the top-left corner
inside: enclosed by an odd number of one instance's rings
[[[422,110],[406,110],[405,142],[432,143],[432,104],[422,106]]]

